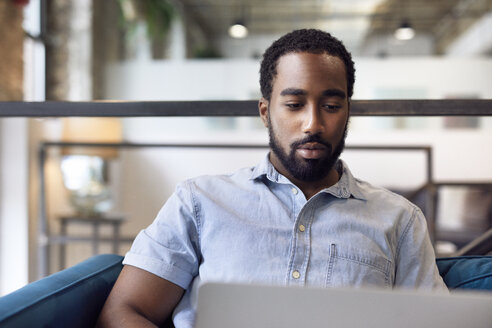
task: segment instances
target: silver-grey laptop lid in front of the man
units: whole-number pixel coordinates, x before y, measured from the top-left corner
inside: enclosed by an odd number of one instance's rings
[[[492,293],[205,283],[196,328],[492,327]]]

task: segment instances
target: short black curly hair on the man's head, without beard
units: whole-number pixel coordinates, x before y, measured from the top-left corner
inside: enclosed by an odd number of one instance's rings
[[[270,100],[272,96],[273,79],[277,75],[279,58],[292,52],[326,53],[340,58],[345,64],[348,97],[352,97],[355,67],[352,55],[347,51],[342,41],[328,32],[317,29],[301,29],[282,36],[265,50],[260,66],[260,88],[263,98]]]

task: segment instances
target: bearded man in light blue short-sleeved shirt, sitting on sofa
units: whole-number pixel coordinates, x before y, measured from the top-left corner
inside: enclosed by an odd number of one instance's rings
[[[100,323],[153,326],[173,313],[191,327],[205,281],[445,290],[421,211],[338,160],[354,72],[328,33],[275,41],[260,69],[271,152],[180,184],[126,255]]]

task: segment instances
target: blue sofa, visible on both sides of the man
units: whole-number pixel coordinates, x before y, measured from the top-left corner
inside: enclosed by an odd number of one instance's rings
[[[97,255],[0,298],[0,328],[94,327],[122,268],[119,255]],[[437,259],[450,289],[492,290],[492,256]]]

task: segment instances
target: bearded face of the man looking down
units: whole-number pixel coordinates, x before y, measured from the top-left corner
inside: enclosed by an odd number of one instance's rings
[[[288,178],[328,176],[345,144],[349,99],[338,57],[306,52],[280,57],[270,101],[260,100],[270,135],[270,161]]]

